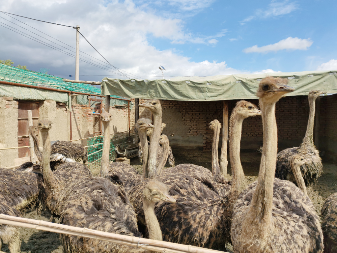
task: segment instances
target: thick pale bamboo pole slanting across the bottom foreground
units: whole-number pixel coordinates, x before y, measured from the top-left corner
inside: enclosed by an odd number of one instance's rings
[[[162,253],[223,253],[223,251],[205,249],[190,245],[156,241],[122,234],[114,234],[89,228],[79,228],[47,221],[14,217],[4,214],[0,214],[0,223],[12,226],[34,228],[54,233],[82,236]]]

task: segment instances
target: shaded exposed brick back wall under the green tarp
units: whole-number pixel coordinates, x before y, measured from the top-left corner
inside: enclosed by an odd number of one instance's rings
[[[229,116],[238,100],[228,101]],[[249,100],[258,105],[258,100]],[[222,101],[195,102],[161,100],[163,112],[166,108],[176,108],[182,114],[182,121],[188,127],[187,136],[203,135],[203,149],[212,148],[213,131],[208,124],[217,119],[222,124]],[[276,104],[279,147],[300,144],[307,127],[309,104],[306,96],[282,98]],[[165,122],[164,122],[165,123]],[[222,138],[222,131],[220,139]],[[261,117],[249,117],[242,126],[242,140],[262,144],[263,131]],[[245,147],[243,147],[245,148]]]

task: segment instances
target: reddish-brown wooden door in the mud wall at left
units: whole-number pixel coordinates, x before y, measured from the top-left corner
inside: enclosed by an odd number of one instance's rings
[[[18,147],[29,146],[28,110],[32,110],[33,125],[36,126],[39,118],[39,102],[19,101]],[[29,148],[19,149],[19,158],[29,156]]]

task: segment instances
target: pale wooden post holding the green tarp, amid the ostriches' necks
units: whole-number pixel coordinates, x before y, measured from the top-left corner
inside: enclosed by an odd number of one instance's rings
[[[223,100],[223,124],[222,124],[222,146],[220,156],[220,171],[223,176],[227,175],[227,141],[228,141],[228,102]]]

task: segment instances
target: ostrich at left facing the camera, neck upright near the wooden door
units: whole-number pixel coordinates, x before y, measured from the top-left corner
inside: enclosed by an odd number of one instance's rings
[[[42,154],[42,173],[47,197],[45,204],[53,214],[60,215],[64,202],[62,201],[63,192],[69,184],[80,180],[81,178],[91,177],[90,170],[79,162],[67,162],[60,166],[56,171],[50,167],[50,138],[49,131],[52,122],[49,120],[39,120],[38,128],[40,130],[43,142]]]

